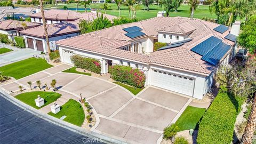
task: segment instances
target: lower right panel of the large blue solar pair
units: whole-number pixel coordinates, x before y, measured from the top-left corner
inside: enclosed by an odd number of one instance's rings
[[[211,65],[217,66],[219,61],[224,55],[230,50],[230,45],[225,43],[219,43],[210,52],[206,53],[201,59],[210,63]]]

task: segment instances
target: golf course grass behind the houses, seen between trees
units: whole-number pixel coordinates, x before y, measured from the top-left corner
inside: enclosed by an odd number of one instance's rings
[[[63,6],[67,6],[68,8],[76,8],[77,3],[73,3],[73,4],[59,4],[58,5],[58,9],[63,9]],[[108,4],[110,6],[110,8],[107,10],[107,14],[111,14],[111,15],[116,15],[119,16],[119,11],[117,9],[117,5],[116,4]],[[15,5],[15,6],[30,6],[30,5]],[[104,12],[102,9],[103,4],[90,4],[92,9],[99,9],[99,12]],[[55,7],[53,4],[47,4],[44,6],[45,9],[53,9],[53,7]],[[144,6],[140,5],[141,10],[137,11],[137,18],[139,20],[145,20],[145,19],[149,19],[149,18],[153,18],[156,17],[157,12],[158,11],[163,11],[164,10],[164,6],[162,6],[162,9],[157,6],[157,5],[150,5],[149,6],[149,11],[144,11]],[[79,8],[84,8],[83,5],[79,5]],[[81,11],[83,12],[83,11]],[[122,17],[129,17],[129,10],[128,7],[125,5],[121,5],[121,16]],[[178,12],[174,12],[172,11],[170,13],[169,17],[176,17],[176,16],[180,16],[180,17],[189,17],[189,6],[188,5],[181,5],[178,9]],[[203,17],[209,17],[209,18],[217,18],[216,15],[214,13],[210,13],[209,12],[209,6],[208,5],[200,5],[199,7],[197,7],[195,14],[194,14],[194,18],[199,18],[202,19]]]

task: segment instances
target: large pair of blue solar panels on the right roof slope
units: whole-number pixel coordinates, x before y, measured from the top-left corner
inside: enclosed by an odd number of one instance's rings
[[[218,65],[219,61],[230,50],[230,45],[222,43],[221,39],[211,36],[202,43],[199,43],[191,51],[202,55],[202,60],[211,65]]]

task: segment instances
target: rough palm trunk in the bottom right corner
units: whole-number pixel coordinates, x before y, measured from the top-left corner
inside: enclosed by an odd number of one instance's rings
[[[255,127],[256,127],[256,92],[254,93],[252,110],[248,118],[247,125],[245,127],[245,131],[242,137],[242,141],[244,144],[252,143]]]

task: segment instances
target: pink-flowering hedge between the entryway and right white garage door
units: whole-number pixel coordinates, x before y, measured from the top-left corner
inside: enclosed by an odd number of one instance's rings
[[[108,71],[115,81],[139,88],[145,85],[146,76],[139,69],[115,65],[109,67]]]

